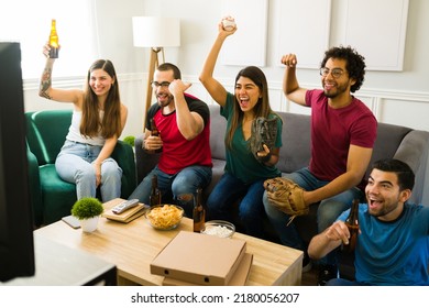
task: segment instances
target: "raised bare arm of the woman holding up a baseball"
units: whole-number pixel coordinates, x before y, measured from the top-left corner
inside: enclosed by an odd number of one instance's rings
[[[211,98],[219,103],[224,106],[227,102],[227,89],[213,78],[215,65],[218,59],[220,50],[223,45],[224,40],[233,34],[237,31],[237,28],[232,30],[224,30],[222,22],[218,25],[219,33],[216,37],[215,44],[212,45],[209,55],[206,58],[206,62],[202,66],[201,74],[199,75],[199,80],[202,82],[207,91],[210,94]]]

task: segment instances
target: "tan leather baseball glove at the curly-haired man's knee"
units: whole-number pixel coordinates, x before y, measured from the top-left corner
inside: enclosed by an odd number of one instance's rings
[[[288,224],[297,216],[308,215],[309,206],[304,201],[304,189],[295,182],[276,177],[264,182],[266,196],[272,205],[290,216]]]

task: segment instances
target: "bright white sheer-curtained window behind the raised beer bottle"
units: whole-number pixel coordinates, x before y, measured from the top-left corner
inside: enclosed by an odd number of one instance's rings
[[[98,55],[95,0],[0,0],[0,42],[21,43],[24,79],[38,78],[51,20],[56,19],[59,58],[56,77],[82,76]]]

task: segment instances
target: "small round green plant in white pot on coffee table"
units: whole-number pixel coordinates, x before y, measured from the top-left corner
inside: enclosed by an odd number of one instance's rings
[[[72,208],[72,215],[79,219],[81,229],[85,232],[92,232],[97,229],[98,219],[105,208],[97,198],[86,197],[77,200]]]

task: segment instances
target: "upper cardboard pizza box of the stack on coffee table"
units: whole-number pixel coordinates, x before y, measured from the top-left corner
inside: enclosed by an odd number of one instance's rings
[[[241,264],[246,243],[180,231],[151,263],[151,273],[197,285],[226,286]]]

